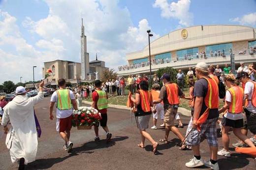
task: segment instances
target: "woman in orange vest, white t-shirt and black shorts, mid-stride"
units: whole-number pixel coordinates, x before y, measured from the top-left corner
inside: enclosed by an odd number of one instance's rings
[[[228,151],[230,127],[233,127],[233,133],[241,141],[244,141],[250,147],[255,147],[250,139],[241,133],[243,127],[243,104],[245,103],[244,90],[239,87],[239,82],[233,74],[226,74],[224,83],[229,88],[226,90],[225,104],[219,110],[219,113],[226,112],[222,119],[222,142],[224,148],[218,151],[218,155],[230,157]]]

